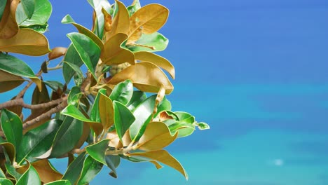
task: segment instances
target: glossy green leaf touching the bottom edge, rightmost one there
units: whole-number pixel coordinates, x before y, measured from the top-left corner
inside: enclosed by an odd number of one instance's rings
[[[94,160],[91,156],[88,156],[83,163],[83,169],[81,177],[78,180],[78,185],[88,184],[95,176],[102,170],[102,163]]]

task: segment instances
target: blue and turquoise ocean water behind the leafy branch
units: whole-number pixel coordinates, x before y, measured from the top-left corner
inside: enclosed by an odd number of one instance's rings
[[[67,46],[76,31],[60,20],[69,13],[90,27],[92,10],[87,1],[51,2],[50,46]],[[90,184],[328,184],[328,1],[141,1],[156,2],[170,9],[160,30],[170,44],[158,53],[176,68],[168,99],[211,129],[167,148],[188,181],[167,166],[122,161],[118,179],[106,169]],[[38,67],[45,57],[22,58]]]

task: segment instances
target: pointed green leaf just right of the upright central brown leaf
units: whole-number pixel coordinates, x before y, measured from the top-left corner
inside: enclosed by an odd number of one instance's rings
[[[122,141],[125,132],[130,128],[130,125],[135,122],[135,116],[121,102],[114,101],[114,124],[118,137]]]

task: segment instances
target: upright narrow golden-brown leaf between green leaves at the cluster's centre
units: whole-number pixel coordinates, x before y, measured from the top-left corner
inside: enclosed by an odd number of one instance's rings
[[[108,130],[114,124],[114,106],[111,99],[102,93],[99,99],[99,114],[104,130]]]

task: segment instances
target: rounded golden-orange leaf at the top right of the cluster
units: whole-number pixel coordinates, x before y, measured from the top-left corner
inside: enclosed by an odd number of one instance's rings
[[[158,29],[165,25],[166,20],[168,20],[168,14],[168,8],[160,4],[149,4],[140,8],[130,18],[129,36],[135,35],[141,27],[144,34],[157,32]],[[137,40],[130,39],[130,41]]]

